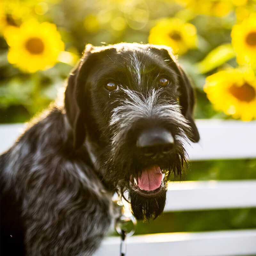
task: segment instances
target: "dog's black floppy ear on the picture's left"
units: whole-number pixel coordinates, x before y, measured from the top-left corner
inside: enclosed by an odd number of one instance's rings
[[[65,91],[65,109],[73,131],[74,148],[80,148],[86,134],[85,83],[89,73],[92,45],[86,45],[83,57],[71,71]]]

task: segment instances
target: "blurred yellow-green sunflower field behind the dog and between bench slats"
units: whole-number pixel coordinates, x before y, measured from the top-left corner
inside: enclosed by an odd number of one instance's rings
[[[1,0],[1,123],[47,108],[85,44],[119,42],[171,46],[196,118],[256,118],[255,0]],[[192,162],[183,179],[256,179],[256,159]],[[136,233],[255,227],[256,209],[229,209],[164,213]]]

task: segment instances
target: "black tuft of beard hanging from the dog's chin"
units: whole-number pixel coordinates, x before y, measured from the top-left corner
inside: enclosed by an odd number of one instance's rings
[[[137,220],[145,221],[150,218],[156,219],[156,217],[164,211],[166,185],[161,189],[160,194],[155,197],[144,197],[130,189],[129,199],[132,214]]]

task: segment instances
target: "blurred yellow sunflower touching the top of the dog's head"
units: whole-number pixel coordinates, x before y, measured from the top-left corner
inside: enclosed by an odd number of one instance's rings
[[[189,49],[196,48],[196,27],[177,18],[161,20],[151,28],[148,42],[168,45],[174,53],[184,54]]]

